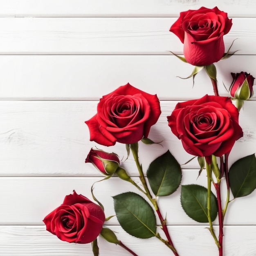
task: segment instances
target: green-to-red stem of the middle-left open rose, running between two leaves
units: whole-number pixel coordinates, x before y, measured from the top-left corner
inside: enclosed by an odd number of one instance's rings
[[[173,254],[175,256],[178,256],[177,254],[177,251],[176,249],[174,248],[173,246],[173,242],[171,240],[171,236],[168,232],[168,229],[167,229],[167,226],[166,226],[166,220],[164,220],[164,218],[162,217],[162,214],[160,212],[160,209],[157,205],[157,201],[156,199],[153,199],[152,195],[150,194],[150,191],[148,189],[148,185],[146,183],[146,180],[145,180],[145,177],[144,177],[144,173],[143,173],[143,170],[142,170],[142,166],[141,164],[139,163],[139,156],[138,156],[138,142],[136,143],[133,143],[131,144],[131,150],[132,150],[132,155],[134,157],[134,160],[135,160],[135,163],[137,165],[137,168],[138,168],[138,171],[139,171],[139,179],[141,180],[141,183],[146,191],[146,196],[148,197],[148,199],[150,200],[150,202],[153,204],[153,206],[155,207],[155,210],[159,216],[159,220],[161,222],[161,225],[163,227],[163,231],[164,231],[164,234],[166,235],[166,238],[168,240],[168,247],[173,251]],[[160,239],[161,240],[161,239]],[[163,241],[162,241],[163,242]],[[166,244],[166,243],[165,243]],[[167,244],[166,244],[167,245]]]

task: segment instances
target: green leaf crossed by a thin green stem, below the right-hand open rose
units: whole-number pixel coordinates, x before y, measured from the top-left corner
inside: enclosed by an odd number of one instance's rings
[[[197,222],[208,222],[207,188],[190,184],[182,185],[180,201],[185,213]],[[217,198],[211,192],[211,220],[217,217]]]

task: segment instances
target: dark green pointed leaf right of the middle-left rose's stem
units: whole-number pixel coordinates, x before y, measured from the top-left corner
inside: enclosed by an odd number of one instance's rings
[[[147,177],[156,196],[171,195],[180,186],[180,164],[168,150],[148,166]]]

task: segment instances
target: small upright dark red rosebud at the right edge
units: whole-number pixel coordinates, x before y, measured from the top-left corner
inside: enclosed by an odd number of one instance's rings
[[[229,93],[231,97],[246,101],[253,95],[254,77],[247,72],[231,73],[233,82],[230,85]]]

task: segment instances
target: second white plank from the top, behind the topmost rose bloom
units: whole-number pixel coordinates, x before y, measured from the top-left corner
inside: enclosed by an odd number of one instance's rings
[[[1,18],[0,54],[176,54],[177,18]],[[234,18],[225,47],[256,54],[256,19]]]

